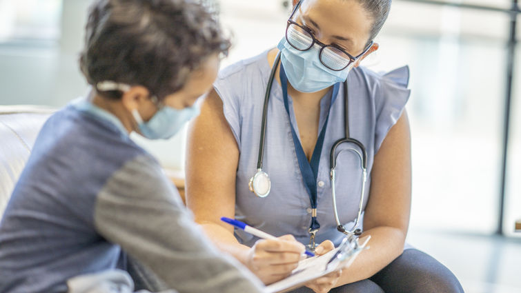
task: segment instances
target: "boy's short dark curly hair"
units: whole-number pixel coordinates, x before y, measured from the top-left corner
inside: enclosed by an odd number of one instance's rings
[[[142,85],[161,100],[181,89],[210,54],[226,54],[229,47],[215,14],[201,1],[97,0],[80,68],[91,85],[106,80]]]

